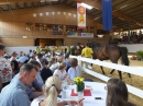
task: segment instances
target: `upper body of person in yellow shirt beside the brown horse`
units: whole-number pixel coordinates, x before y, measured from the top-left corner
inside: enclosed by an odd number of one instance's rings
[[[81,56],[85,58],[92,58],[92,49],[86,44],[86,47],[81,50]]]

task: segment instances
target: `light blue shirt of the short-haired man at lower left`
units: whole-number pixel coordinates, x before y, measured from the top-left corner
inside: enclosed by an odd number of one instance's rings
[[[25,85],[18,79],[2,89],[0,106],[30,106],[31,102],[25,92]]]

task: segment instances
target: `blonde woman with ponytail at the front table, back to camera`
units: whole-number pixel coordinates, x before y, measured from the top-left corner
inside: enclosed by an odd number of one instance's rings
[[[69,106],[81,106],[81,104],[75,101],[57,102],[57,95],[61,93],[61,87],[62,82],[58,79],[58,76],[56,75],[50,76],[46,80],[45,85],[43,87],[44,98],[42,96],[35,98],[31,103],[31,106],[64,106],[67,104]]]

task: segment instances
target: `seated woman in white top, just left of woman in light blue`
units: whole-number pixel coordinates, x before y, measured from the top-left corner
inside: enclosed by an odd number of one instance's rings
[[[61,81],[65,80],[66,76],[67,76],[66,63],[61,62],[59,66],[58,66],[58,69],[55,70],[54,74],[57,75],[61,79]]]

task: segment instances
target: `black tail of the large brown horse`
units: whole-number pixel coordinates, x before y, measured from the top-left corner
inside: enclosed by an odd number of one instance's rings
[[[128,50],[124,47],[120,47],[120,52],[121,52],[121,63],[124,66],[129,66],[130,61],[128,58]]]

